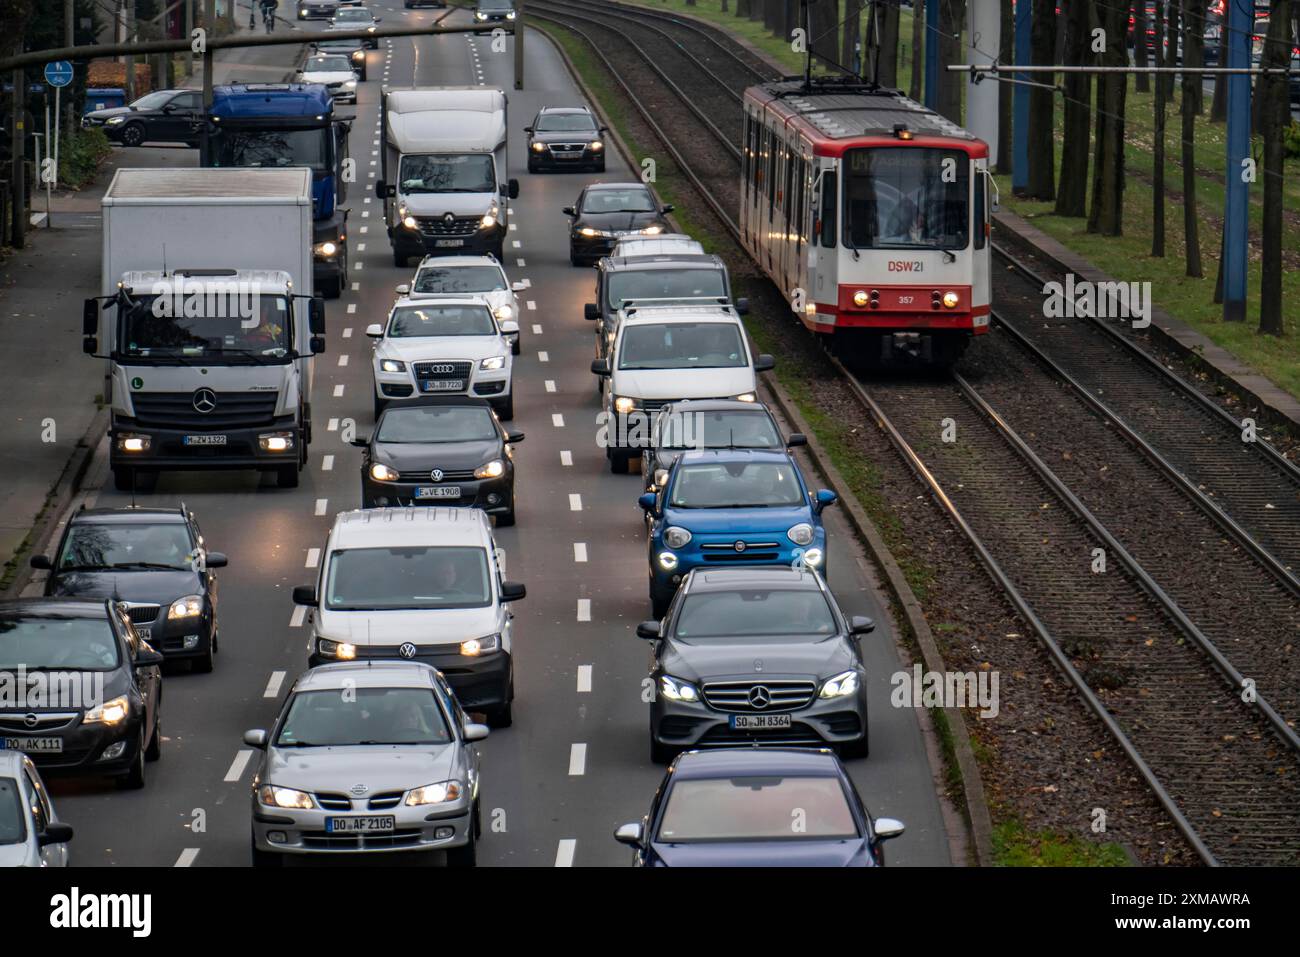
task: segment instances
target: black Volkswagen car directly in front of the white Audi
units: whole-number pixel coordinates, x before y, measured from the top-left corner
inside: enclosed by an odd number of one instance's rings
[[[515,450],[486,399],[436,395],[384,410],[361,456],[361,507],[443,505],[482,508],[515,524]]]

